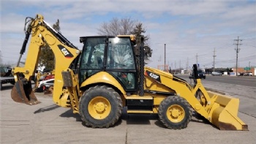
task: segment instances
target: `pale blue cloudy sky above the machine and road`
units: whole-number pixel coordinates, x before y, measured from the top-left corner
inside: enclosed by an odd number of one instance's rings
[[[153,50],[149,67],[169,64],[172,69],[213,66],[256,66],[256,1],[242,0],[1,0],[1,55],[16,64],[25,34],[26,17],[39,13],[78,48],[79,37],[97,35],[103,22],[132,18],[143,23]],[[166,54],[164,53],[166,44]],[[165,58],[166,55],[166,59]],[[24,60],[26,56],[23,56]]]

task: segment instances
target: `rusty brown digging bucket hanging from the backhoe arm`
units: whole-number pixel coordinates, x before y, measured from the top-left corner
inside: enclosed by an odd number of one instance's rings
[[[30,81],[18,80],[12,88],[11,96],[15,102],[27,105],[37,105],[39,103],[34,95]]]

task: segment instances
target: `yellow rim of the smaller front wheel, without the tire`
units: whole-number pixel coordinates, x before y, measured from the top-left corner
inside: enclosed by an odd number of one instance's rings
[[[170,121],[178,123],[184,119],[185,113],[183,107],[180,105],[171,105],[168,107],[166,115]]]

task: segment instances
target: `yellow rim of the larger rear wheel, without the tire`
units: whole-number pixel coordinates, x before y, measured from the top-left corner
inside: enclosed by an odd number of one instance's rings
[[[104,119],[110,114],[111,105],[105,97],[96,96],[89,102],[88,110],[93,118]]]

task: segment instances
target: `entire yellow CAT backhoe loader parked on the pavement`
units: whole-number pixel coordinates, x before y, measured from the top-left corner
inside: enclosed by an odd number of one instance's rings
[[[40,48],[49,45],[56,58],[53,102],[79,113],[86,126],[113,126],[127,107],[128,114],[157,113],[159,121],[170,129],[186,128],[193,109],[219,129],[248,130],[237,116],[239,99],[206,91],[195,64],[195,86],[168,72],[145,67],[143,37],[80,37],[83,50],[78,50],[42,15],[27,18],[25,27],[20,57],[31,36],[26,63],[12,69],[16,83],[11,96],[15,102],[39,103],[31,77]]]

